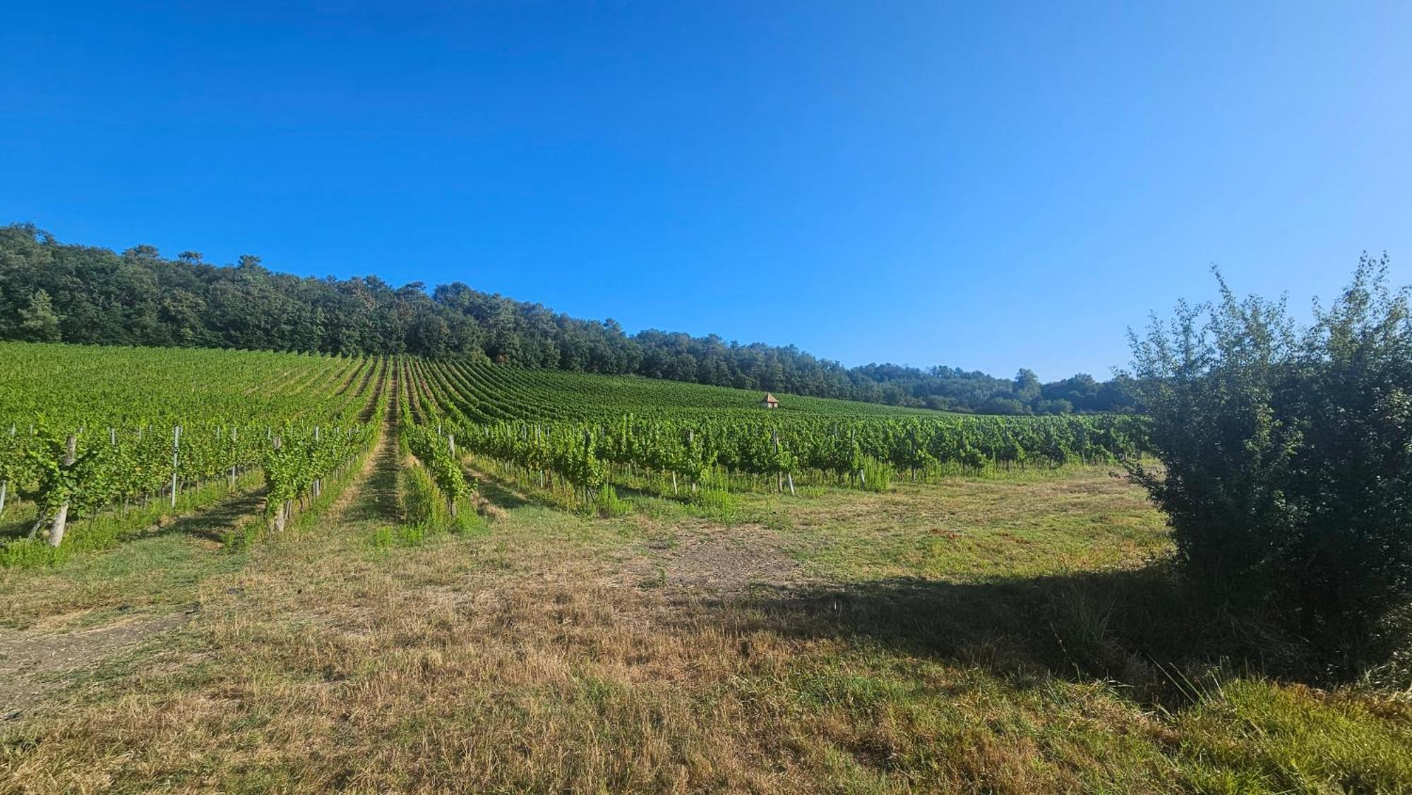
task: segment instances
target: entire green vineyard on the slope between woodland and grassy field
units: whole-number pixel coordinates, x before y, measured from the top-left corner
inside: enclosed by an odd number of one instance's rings
[[[415,357],[7,343],[0,560],[54,561],[164,516],[263,495],[281,531],[395,426],[412,524],[455,520],[474,476],[575,509],[614,488],[710,502],[801,486],[887,491],[1141,448],[1124,416],[986,417]],[[405,507],[404,505],[404,507]],[[82,531],[65,544],[69,526]]]

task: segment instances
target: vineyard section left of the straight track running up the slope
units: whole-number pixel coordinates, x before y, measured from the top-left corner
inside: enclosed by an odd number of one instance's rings
[[[54,561],[263,486],[270,524],[381,423],[391,359],[0,345],[0,561]],[[65,543],[68,529],[78,536]],[[40,536],[42,533],[42,544]]]

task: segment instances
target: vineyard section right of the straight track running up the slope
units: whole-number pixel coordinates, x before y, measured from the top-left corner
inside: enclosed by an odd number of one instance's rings
[[[490,364],[409,361],[404,423],[435,426],[486,471],[590,503],[607,485],[698,499],[796,485],[882,491],[995,469],[1111,462],[1130,416],[987,417]],[[449,486],[453,486],[449,483]]]

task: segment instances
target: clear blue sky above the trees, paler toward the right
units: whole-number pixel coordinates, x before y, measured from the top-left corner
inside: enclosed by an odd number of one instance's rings
[[[1409,3],[291,6],[10,4],[0,223],[1045,379],[1412,282]]]

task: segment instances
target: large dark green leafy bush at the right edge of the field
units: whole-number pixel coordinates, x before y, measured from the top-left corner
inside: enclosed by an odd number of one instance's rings
[[[1203,593],[1278,613],[1357,667],[1412,591],[1408,292],[1387,288],[1385,258],[1364,257],[1300,330],[1284,302],[1238,300],[1217,281],[1219,303],[1179,304],[1172,324],[1131,335],[1162,468],[1130,472]]]

